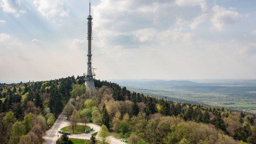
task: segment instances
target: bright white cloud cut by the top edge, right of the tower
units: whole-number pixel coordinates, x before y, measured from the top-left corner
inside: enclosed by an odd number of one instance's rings
[[[176,0],[178,6],[200,6],[202,11],[206,11],[206,0]]]

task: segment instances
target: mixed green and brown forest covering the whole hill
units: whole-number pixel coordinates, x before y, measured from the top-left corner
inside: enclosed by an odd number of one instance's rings
[[[89,96],[84,77],[0,85],[0,143],[42,143],[63,110],[69,120],[105,125],[130,144],[256,144],[255,116],[130,92],[95,80]]]

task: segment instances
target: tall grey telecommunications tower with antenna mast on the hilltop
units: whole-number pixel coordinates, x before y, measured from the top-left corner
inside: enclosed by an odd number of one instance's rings
[[[87,17],[87,40],[88,40],[88,61],[87,61],[87,73],[85,77],[85,86],[89,89],[90,94],[95,90],[95,85],[94,85],[94,77],[95,74],[92,73],[92,62],[91,62],[91,40],[92,40],[92,16],[91,16],[91,2],[89,3],[89,16]]]

